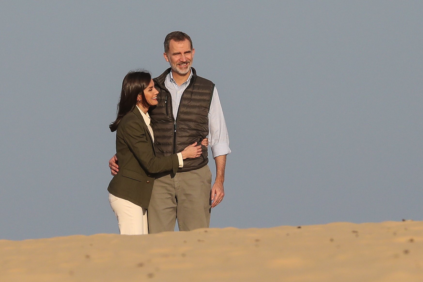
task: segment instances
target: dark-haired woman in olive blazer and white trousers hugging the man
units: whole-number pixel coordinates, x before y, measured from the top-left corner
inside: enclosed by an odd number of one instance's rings
[[[122,82],[116,120],[116,156],[121,168],[110,181],[109,202],[118,219],[121,234],[148,233],[147,208],[154,184],[154,173],[183,167],[183,159],[201,156],[197,142],[184,151],[157,158],[148,108],[157,105],[158,91],[147,71],[130,71]]]

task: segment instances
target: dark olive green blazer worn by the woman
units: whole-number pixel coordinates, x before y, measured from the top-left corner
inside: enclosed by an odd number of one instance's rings
[[[178,156],[156,157],[153,139],[137,107],[126,114],[116,130],[116,156],[119,172],[107,191],[135,205],[148,208],[153,191],[154,173],[179,167]]]

